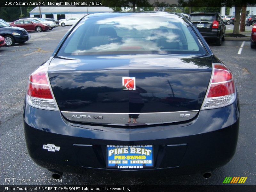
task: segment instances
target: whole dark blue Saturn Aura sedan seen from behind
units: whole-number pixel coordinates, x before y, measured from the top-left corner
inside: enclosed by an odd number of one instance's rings
[[[184,16],[82,18],[29,77],[31,158],[58,172],[208,172],[235,154],[231,71]]]

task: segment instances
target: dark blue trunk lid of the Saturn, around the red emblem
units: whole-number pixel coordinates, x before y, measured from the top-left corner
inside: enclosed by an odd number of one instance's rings
[[[129,114],[140,114],[143,124],[196,116],[211,78],[211,57],[148,57],[54,58],[48,75],[63,116],[116,125],[127,125]],[[123,77],[135,77],[136,89],[123,90]]]

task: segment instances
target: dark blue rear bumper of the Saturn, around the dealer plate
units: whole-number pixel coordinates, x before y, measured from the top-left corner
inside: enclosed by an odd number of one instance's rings
[[[24,108],[24,131],[31,158],[47,169],[68,172],[84,172],[86,168],[168,174],[210,171],[227,164],[235,154],[238,127],[237,100],[224,108],[200,111],[190,122],[135,129],[73,124],[58,111],[28,104]],[[47,144],[60,150],[43,149]],[[108,169],[106,145],[153,145],[155,166]]]

